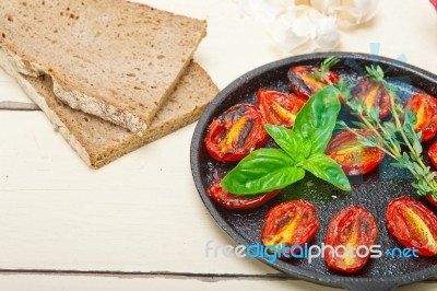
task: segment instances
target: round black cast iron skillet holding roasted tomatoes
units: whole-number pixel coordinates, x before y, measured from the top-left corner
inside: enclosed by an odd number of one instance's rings
[[[435,74],[393,59],[351,53],[292,57],[262,66],[235,80],[216,96],[196,127],[191,142],[191,171],[200,197],[208,210],[218,225],[238,244],[258,243],[267,211],[290,199],[305,198],[315,205],[320,219],[319,231],[312,241],[312,244],[317,245],[321,245],[324,241],[326,228],[335,212],[350,205],[366,207],[378,221],[379,234],[376,244],[381,245],[382,252],[387,248],[402,247],[387,232],[385,225],[386,207],[391,199],[408,195],[423,201],[429,209],[435,209],[423,197],[415,194],[411,186],[411,177],[405,172],[392,167],[387,158],[377,171],[352,179],[353,190],[346,194],[307,174],[304,181],[285,188],[280,196],[253,210],[226,210],[210,200],[208,188],[214,182],[214,177],[224,176],[235,166],[235,163],[216,162],[206,153],[203,140],[211,120],[236,103],[253,103],[258,89],[270,88],[288,92],[286,72],[291,66],[318,66],[332,55],[342,59],[333,70],[352,79],[365,74],[363,71],[365,66],[380,65],[389,80],[399,86],[402,100],[409,98],[411,94],[420,90],[434,96],[437,95],[437,77]],[[343,119],[352,118],[344,108],[340,116]],[[424,144],[424,151],[433,142]],[[311,264],[307,259],[276,260],[274,263],[269,263],[267,258],[259,259],[287,275],[350,290],[392,290],[398,286],[437,275],[437,257],[390,258],[382,255],[381,258],[369,259],[364,269],[353,275],[329,269],[322,258],[316,259]]]

